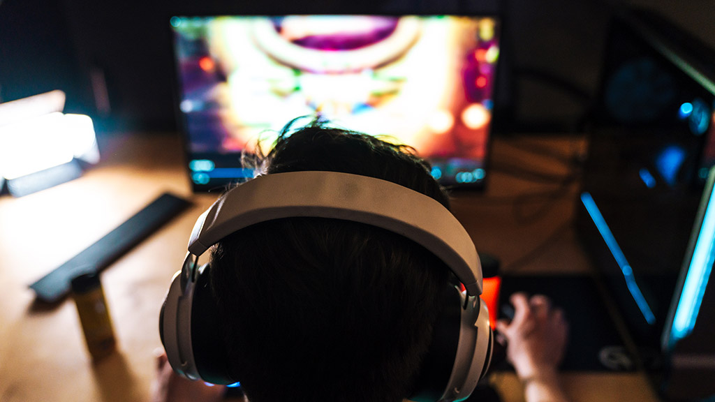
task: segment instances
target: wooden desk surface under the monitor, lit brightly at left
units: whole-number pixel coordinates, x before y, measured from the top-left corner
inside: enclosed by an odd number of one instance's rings
[[[83,177],[26,197],[0,197],[0,401],[148,400],[153,353],[161,346],[159,308],[197,215],[216,195],[192,195],[177,135],[111,136],[99,145],[103,160]],[[543,145],[561,154],[536,155]],[[514,175],[525,167],[564,175],[560,155],[581,147],[563,137],[494,142],[487,192],[456,192],[453,201],[480,252],[500,258],[508,273],[589,272],[568,225],[576,187]],[[92,363],[74,303],[38,307],[28,285],[166,191],[194,206],[102,273],[119,353]],[[512,374],[497,373],[493,381],[504,402],[522,400]],[[643,373],[565,373],[563,385],[574,401],[657,400]]]

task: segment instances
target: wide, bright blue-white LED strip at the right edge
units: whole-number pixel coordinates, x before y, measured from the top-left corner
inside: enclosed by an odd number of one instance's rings
[[[715,197],[712,193],[705,210],[698,240],[693,249],[688,273],[680,294],[678,308],[673,318],[671,337],[674,341],[689,335],[698,318],[700,303],[710,278],[713,262],[715,260]]]

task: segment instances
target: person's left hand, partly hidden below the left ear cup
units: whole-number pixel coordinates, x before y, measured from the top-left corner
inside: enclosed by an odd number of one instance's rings
[[[157,356],[157,377],[152,383],[151,402],[217,402],[222,400],[225,388],[179,376],[169,365],[167,355],[161,353]]]

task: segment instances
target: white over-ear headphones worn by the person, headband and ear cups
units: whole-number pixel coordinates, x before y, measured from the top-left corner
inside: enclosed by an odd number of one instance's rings
[[[258,222],[327,217],[382,227],[417,242],[448,265],[465,286],[438,322],[413,401],[467,398],[485,375],[493,343],[489,313],[480,303],[482,273],[474,244],[460,222],[427,195],[386,180],[339,172],[264,175],[226,192],[194,225],[182,270],[174,275],[159,329],[174,371],[194,380],[235,383],[227,374],[216,323],[204,309],[207,277],[198,258],[223,237]],[[199,322],[200,321],[200,322]]]

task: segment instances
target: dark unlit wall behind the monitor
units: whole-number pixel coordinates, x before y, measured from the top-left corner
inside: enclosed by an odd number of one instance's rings
[[[616,7],[661,12],[715,48],[715,1],[606,0],[0,0],[0,102],[51,89],[98,131],[176,130],[169,16],[191,14],[503,14],[501,99],[511,130],[569,131],[598,87]],[[358,5],[355,5],[358,4]],[[97,104],[92,79],[106,84]],[[107,108],[109,106],[109,108]]]

